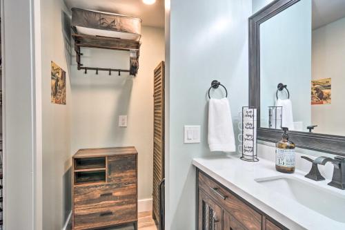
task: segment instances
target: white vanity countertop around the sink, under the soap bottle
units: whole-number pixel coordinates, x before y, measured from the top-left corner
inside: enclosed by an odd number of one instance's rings
[[[195,158],[193,165],[288,229],[345,229],[345,223],[332,220],[255,182],[257,178],[293,176],[329,189],[332,193],[345,195],[345,191],[328,186],[329,180],[315,182],[304,178],[306,173],[298,170],[293,174],[279,173],[275,170],[274,162],[264,159],[259,162],[245,162],[237,155]]]

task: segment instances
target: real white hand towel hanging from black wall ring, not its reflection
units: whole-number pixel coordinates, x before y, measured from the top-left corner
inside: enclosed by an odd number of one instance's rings
[[[236,151],[233,120],[227,98],[210,99],[208,106],[208,146],[210,146],[210,151]]]

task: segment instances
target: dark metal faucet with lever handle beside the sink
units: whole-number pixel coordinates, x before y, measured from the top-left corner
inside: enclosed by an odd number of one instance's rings
[[[337,189],[345,190],[345,157],[317,157],[315,160],[311,160],[309,157],[302,156],[303,159],[306,159],[313,163],[311,171],[305,175],[306,178],[311,180],[324,180],[319,169],[317,169],[317,164],[325,165],[327,162],[331,162],[334,166],[332,181],[328,183]]]

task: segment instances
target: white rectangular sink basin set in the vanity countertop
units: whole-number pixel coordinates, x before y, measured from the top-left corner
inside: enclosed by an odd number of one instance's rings
[[[294,176],[257,178],[255,181],[317,213],[345,223],[345,195]]]

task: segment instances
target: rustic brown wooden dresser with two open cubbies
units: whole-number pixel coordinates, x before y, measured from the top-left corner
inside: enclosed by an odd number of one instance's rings
[[[137,229],[135,147],[80,149],[72,157],[72,229]]]

